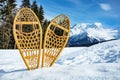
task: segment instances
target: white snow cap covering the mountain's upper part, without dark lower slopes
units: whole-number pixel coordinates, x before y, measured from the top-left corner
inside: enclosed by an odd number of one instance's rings
[[[95,22],[94,24],[79,23],[72,27],[70,30],[70,36],[76,36],[80,34],[82,35],[84,33],[87,33],[89,38],[97,39],[100,41],[115,39],[118,31],[103,28],[103,25],[100,22]]]

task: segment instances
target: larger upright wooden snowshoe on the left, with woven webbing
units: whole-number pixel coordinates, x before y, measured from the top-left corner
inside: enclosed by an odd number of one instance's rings
[[[16,14],[13,35],[27,69],[38,68],[42,47],[42,28],[31,9],[21,8]]]

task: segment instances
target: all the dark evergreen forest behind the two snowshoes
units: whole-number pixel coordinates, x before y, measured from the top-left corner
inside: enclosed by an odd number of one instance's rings
[[[50,21],[44,17],[44,8],[42,5],[37,5],[36,1],[30,3],[30,0],[22,0],[20,8],[31,8],[37,15],[44,32]],[[0,0],[0,49],[16,49],[16,44],[13,38],[13,21],[18,12],[16,0]]]

